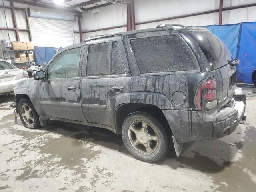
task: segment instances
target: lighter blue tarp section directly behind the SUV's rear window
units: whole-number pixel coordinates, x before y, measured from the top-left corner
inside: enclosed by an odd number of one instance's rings
[[[220,38],[230,50],[232,57],[236,58],[240,24],[203,26]]]

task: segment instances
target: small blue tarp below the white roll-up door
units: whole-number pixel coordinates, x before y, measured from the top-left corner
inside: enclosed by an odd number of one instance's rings
[[[54,47],[34,47],[36,64],[45,66],[51,58],[56,54]]]

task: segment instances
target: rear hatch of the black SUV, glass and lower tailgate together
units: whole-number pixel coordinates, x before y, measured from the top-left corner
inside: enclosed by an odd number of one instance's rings
[[[236,68],[230,66],[232,58],[226,45],[208,31],[187,32],[201,48],[216,80],[217,108],[222,108],[233,96],[236,87]]]

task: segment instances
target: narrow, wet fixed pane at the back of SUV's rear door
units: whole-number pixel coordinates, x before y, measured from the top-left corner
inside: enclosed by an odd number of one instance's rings
[[[117,41],[112,42],[111,75],[124,74],[124,64]]]

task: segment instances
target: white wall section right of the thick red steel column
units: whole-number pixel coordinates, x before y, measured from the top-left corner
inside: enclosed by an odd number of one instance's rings
[[[223,7],[238,6],[255,2],[256,0],[224,0]],[[147,6],[145,6],[144,3],[145,0],[135,0],[134,8],[136,23],[192,14],[196,12],[204,12],[219,8],[219,0],[147,0]],[[136,29],[156,27],[158,24],[162,23],[176,23],[186,26],[218,24],[218,15],[219,13],[216,12],[199,16],[141,24],[136,25]],[[256,7],[241,8],[223,12],[222,24],[233,24],[249,21],[256,21]]]

